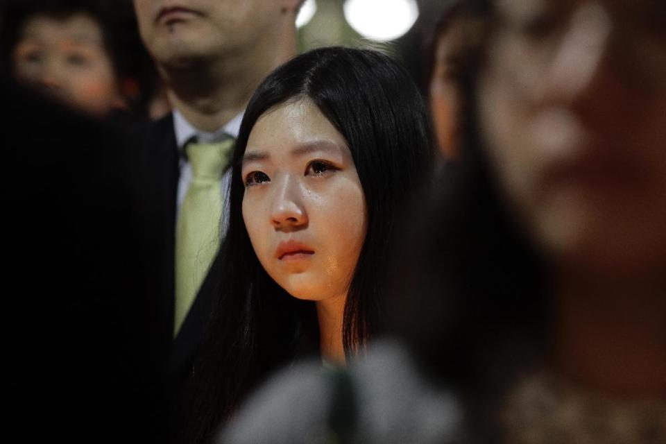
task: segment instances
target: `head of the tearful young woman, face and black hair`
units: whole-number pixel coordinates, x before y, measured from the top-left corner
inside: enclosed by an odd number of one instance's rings
[[[254,260],[292,296],[348,291],[345,345],[359,345],[388,280],[400,204],[430,161],[407,71],[373,51],[310,51],[268,76],[248,105],[228,238],[254,246]]]

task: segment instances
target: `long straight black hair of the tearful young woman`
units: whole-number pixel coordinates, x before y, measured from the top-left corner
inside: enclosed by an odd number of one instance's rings
[[[259,85],[234,149],[229,225],[212,268],[219,300],[195,366],[190,441],[210,438],[266,373],[293,358],[304,332],[316,341],[314,303],[296,300],[264,271],[250,244],[241,205],[241,160],[257,119],[280,103],[307,99],[343,135],[367,205],[367,234],[345,303],[345,352],[362,350],[379,323],[400,237],[396,222],[433,160],[427,111],[407,71],[381,53],[331,47],[302,54]],[[407,210],[405,210],[407,211]]]

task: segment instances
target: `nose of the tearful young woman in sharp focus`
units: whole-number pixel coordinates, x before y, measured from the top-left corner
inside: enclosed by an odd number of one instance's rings
[[[293,231],[307,226],[307,212],[304,205],[304,191],[301,184],[291,176],[286,176],[275,187],[271,202],[271,223],[275,230]]]

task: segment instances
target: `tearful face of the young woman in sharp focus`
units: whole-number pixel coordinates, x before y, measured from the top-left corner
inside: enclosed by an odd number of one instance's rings
[[[241,169],[259,262],[292,296],[344,298],[366,237],[366,203],[344,137],[304,99],[269,110]]]

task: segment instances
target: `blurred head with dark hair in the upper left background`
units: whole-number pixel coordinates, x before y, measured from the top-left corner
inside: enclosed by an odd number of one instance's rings
[[[76,110],[147,116],[155,73],[129,1],[10,1],[5,57],[13,76]]]

